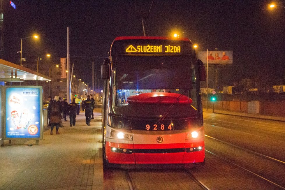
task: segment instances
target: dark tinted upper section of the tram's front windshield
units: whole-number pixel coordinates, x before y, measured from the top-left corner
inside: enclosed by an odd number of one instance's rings
[[[115,60],[118,89],[190,89],[189,56],[120,56]]]

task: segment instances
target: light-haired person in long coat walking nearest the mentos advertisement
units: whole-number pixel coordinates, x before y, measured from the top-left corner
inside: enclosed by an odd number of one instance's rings
[[[50,134],[52,135],[52,130],[55,126],[56,133],[59,135],[58,129],[61,122],[61,112],[62,107],[59,101],[59,96],[54,96],[54,101],[52,102],[51,106],[51,113],[50,113]]]

